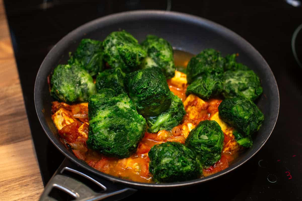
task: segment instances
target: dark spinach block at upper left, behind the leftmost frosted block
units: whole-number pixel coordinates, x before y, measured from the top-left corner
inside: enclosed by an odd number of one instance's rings
[[[79,64],[91,76],[97,75],[104,69],[103,43],[98,40],[82,39],[68,63]]]

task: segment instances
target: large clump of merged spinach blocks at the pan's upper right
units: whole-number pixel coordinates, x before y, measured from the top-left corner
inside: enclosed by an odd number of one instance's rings
[[[186,94],[209,99],[221,93],[225,98],[245,97],[252,101],[262,94],[259,77],[236,61],[236,54],[223,58],[214,49],[205,49],[188,63]]]

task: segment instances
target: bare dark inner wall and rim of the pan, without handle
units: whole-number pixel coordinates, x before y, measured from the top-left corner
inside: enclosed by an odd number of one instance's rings
[[[57,130],[51,119],[51,102],[53,98],[49,93],[47,76],[58,64],[67,64],[69,52],[73,52],[83,38],[103,40],[109,33],[118,30],[130,32],[139,42],[147,34],[154,34],[168,40],[171,45],[180,50],[198,54],[205,48],[214,48],[222,55],[239,53],[238,61],[246,64],[262,81],[263,94],[258,99],[257,105],[265,115],[265,120],[260,130],[254,136],[252,148],[243,152],[236,161],[224,171],[210,177],[175,184],[142,184],[122,180],[101,173],[85,162],[77,159],[73,153],[59,141]],[[69,159],[82,167],[93,171],[109,180],[122,182],[140,187],[174,187],[201,183],[219,175],[232,171],[252,157],[268,139],[275,126],[279,110],[278,87],[274,75],[268,64],[248,42],[232,31],[208,20],[187,14],[166,11],[133,11],[109,15],[85,24],[72,31],[61,39],[48,53],[37,74],[35,84],[35,105],[43,129],[55,146]],[[42,133],[41,133],[42,134]]]

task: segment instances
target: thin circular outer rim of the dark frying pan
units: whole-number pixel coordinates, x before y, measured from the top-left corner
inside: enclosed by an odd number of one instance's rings
[[[48,131],[45,129],[45,127],[48,127],[46,124],[44,124],[41,119],[43,118],[43,116],[41,115],[40,111],[43,109],[43,107],[41,107],[42,105],[39,105],[39,101],[38,101],[38,91],[37,91],[37,85],[39,83],[39,79],[40,79],[40,74],[41,71],[43,71],[43,66],[45,65],[45,63],[47,63],[47,59],[50,57],[51,54],[53,54],[53,52],[56,50],[57,46],[60,46],[62,43],[64,43],[64,41],[66,41],[69,38],[72,38],[72,36],[76,35],[76,33],[78,33],[81,30],[86,30],[89,27],[92,27],[94,24],[99,24],[101,22],[105,22],[105,21],[111,21],[111,20],[119,20],[119,19],[125,19],[125,18],[131,18],[131,17],[148,17],[148,16],[162,16],[162,17],[166,17],[166,18],[172,18],[174,20],[184,20],[184,21],[190,21],[193,23],[197,23],[197,24],[202,24],[204,26],[207,27],[211,27],[211,29],[214,30],[219,30],[220,32],[222,32],[223,34],[225,34],[227,37],[233,38],[236,41],[238,41],[240,43],[240,45],[242,46],[246,46],[247,49],[250,52],[253,52],[254,54],[257,55],[257,57],[259,59],[261,59],[261,62],[263,62],[263,64],[268,68],[268,70],[270,71],[271,75],[272,75],[272,80],[273,83],[276,86],[276,90],[277,90],[277,94],[278,94],[278,99],[276,100],[277,104],[278,104],[278,109],[276,114],[274,115],[275,119],[274,119],[274,125],[272,126],[271,131],[269,131],[269,135],[268,137],[266,137],[266,139],[264,141],[262,141],[261,146],[258,148],[258,150],[256,150],[255,152],[253,152],[249,157],[247,157],[246,159],[242,159],[243,161],[240,162],[238,161],[239,164],[235,165],[233,168],[226,168],[223,171],[220,171],[217,174],[213,174],[209,177],[203,177],[203,178],[198,178],[195,180],[190,180],[190,181],[183,181],[183,182],[177,182],[177,183],[165,183],[165,184],[155,184],[155,183],[141,183],[141,182],[135,182],[135,181],[129,181],[129,180],[125,180],[125,179],[121,179],[118,177],[114,177],[111,176],[109,174],[105,174],[102,173],[100,171],[95,170],[94,168],[88,166],[85,162],[82,162],[81,160],[77,159],[75,156],[72,156],[71,153],[67,153],[66,150],[63,150],[62,147],[60,147],[59,145],[57,145],[53,139],[50,137],[51,133],[48,133]],[[262,57],[262,55],[249,43],[247,42],[245,39],[243,39],[241,36],[239,36],[238,34],[236,34],[235,32],[233,32],[232,30],[229,30],[226,27],[223,27],[220,24],[217,24],[215,22],[212,22],[210,20],[201,18],[201,17],[197,17],[191,14],[184,14],[184,13],[180,13],[180,12],[175,12],[175,11],[159,11],[159,10],[137,10],[137,11],[127,11],[127,12],[121,12],[121,13],[116,13],[116,14],[111,14],[111,15],[107,15],[105,17],[100,17],[98,19],[92,20],[86,24],[83,24],[82,26],[76,28],[75,30],[69,32],[66,36],[64,36],[62,39],[59,40],[59,42],[56,43],[55,46],[53,46],[53,48],[48,52],[48,54],[46,55],[46,57],[44,58],[42,64],[40,65],[39,71],[37,73],[37,77],[35,80],[35,86],[34,86],[34,103],[35,103],[35,108],[36,108],[36,112],[38,115],[38,119],[39,122],[44,130],[44,132],[46,133],[47,137],[50,139],[50,141],[56,146],[57,149],[59,149],[60,152],[62,152],[69,160],[71,160],[72,162],[76,163],[77,165],[81,166],[82,168],[98,175],[101,176],[107,180],[113,181],[113,182],[118,182],[121,184],[126,184],[128,186],[132,186],[132,187],[155,187],[155,188],[170,188],[170,187],[184,187],[184,186],[190,186],[190,185],[195,185],[195,184],[201,184],[213,179],[216,179],[218,177],[221,177],[233,170],[235,170],[236,168],[240,167],[241,165],[243,165],[244,163],[246,163],[249,159],[251,159],[266,143],[266,141],[268,140],[268,138],[270,137],[272,131],[275,128],[275,124],[277,122],[278,119],[278,115],[279,115],[279,106],[280,106],[280,99],[279,99],[279,90],[278,90],[278,85],[275,79],[274,74],[271,71],[271,68],[269,67],[269,65],[267,64],[267,62],[265,61],[265,59]],[[237,163],[237,162],[236,162]]]

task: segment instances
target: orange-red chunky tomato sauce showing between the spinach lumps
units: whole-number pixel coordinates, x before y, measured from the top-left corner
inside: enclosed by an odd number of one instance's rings
[[[185,61],[175,61],[175,65],[176,63],[179,63],[186,67],[190,58],[191,56],[188,56]],[[173,78],[167,80],[167,82],[169,89],[176,96],[182,99],[182,102],[185,102],[187,98],[185,95],[187,84],[175,83]],[[191,131],[191,129],[193,129],[200,121],[210,120],[210,117],[218,111],[218,106],[221,101],[222,100],[220,99],[210,99],[206,101],[202,107],[199,107],[198,101],[193,99],[188,103],[191,108],[185,108],[187,114],[184,116],[181,124],[174,127],[171,131],[160,130],[158,133],[146,132],[145,136],[138,144],[137,151],[129,158],[124,159],[104,156],[97,151],[87,148],[86,140],[88,139],[89,130],[88,103],[68,105],[66,103],[55,101],[52,105],[52,112],[55,113],[59,108],[65,108],[69,110],[70,115],[76,119],[72,124],[69,124],[59,130],[59,135],[61,137],[61,141],[65,143],[67,147],[71,147],[73,153],[78,159],[85,161],[89,166],[106,174],[132,181],[150,183],[153,182],[152,175],[149,173],[148,157],[148,152],[151,147],[155,144],[168,141],[177,141],[184,144],[189,131]],[[198,111],[196,113],[197,115],[192,118],[192,115],[188,113],[188,110],[194,109],[198,109]],[[225,134],[224,146],[231,140],[234,139]],[[227,168],[230,162],[232,162],[237,155],[237,152],[222,152],[221,159],[209,168],[204,169],[201,177],[209,176]]]

